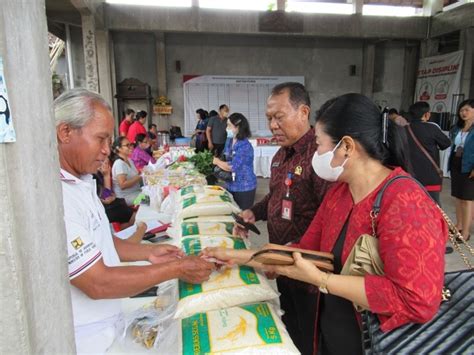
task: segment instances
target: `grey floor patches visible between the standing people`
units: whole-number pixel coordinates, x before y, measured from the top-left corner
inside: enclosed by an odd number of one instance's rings
[[[268,192],[268,182],[269,179],[258,179],[257,185],[257,194],[255,197],[255,201],[260,201]],[[441,193],[441,203],[448,214],[448,216],[455,222],[455,209],[454,209],[454,200],[450,195],[450,180],[444,179],[443,182],[443,191]],[[252,243],[253,248],[258,248],[265,243],[268,243],[268,232],[266,227],[266,222],[259,221],[257,222],[257,227],[262,232],[261,235],[256,235],[251,233],[250,241]],[[474,234],[474,223],[471,225],[471,234]],[[473,242],[471,242],[472,244]],[[471,257],[472,260],[472,257]],[[458,253],[454,252],[452,254],[446,255],[446,271],[453,271],[453,270],[460,270],[464,269],[466,266],[464,265],[461,257]]]

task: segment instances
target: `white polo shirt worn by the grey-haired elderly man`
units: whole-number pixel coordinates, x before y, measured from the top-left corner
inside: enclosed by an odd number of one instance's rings
[[[120,259],[110,232],[109,220],[96,192],[92,175],[80,179],[61,169],[61,185],[66,224],[69,279],[81,275],[100,259],[107,266],[118,266]],[[103,332],[103,344],[94,352],[103,352],[113,341],[113,329],[121,313],[120,299],[93,300],[71,284],[71,299],[78,352],[82,342],[96,342],[93,337]],[[109,339],[111,338],[111,339]],[[110,340],[110,344],[108,343]],[[90,349],[87,344],[87,348]],[[105,349],[104,346],[107,347]],[[97,351],[95,351],[97,350]]]

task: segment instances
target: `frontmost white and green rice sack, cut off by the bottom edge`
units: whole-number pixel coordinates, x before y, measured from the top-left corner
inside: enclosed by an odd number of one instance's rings
[[[167,332],[170,336],[155,344],[159,354],[299,354],[268,303],[198,313],[174,323]]]

